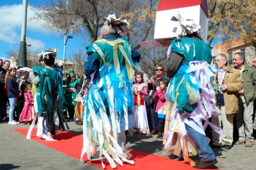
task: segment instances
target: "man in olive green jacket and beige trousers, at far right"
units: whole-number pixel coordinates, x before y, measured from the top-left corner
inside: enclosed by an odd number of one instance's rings
[[[239,91],[239,111],[235,114],[235,120],[239,133],[239,140],[235,144],[253,146],[253,101],[256,99],[256,71],[251,66],[244,64],[244,54],[237,52],[233,56],[233,64],[240,71],[244,88]]]

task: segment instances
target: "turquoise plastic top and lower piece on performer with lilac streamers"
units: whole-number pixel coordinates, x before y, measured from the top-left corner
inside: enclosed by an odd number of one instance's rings
[[[182,66],[171,82],[173,89],[171,99],[172,102],[177,102],[180,114],[191,113],[197,107],[198,80],[194,78],[194,73],[187,73],[188,64],[191,61],[206,61],[210,64],[212,60],[211,49],[204,41],[190,38],[173,39],[171,48],[172,52],[178,52],[185,57]],[[175,97],[177,87],[179,87],[179,95]]]

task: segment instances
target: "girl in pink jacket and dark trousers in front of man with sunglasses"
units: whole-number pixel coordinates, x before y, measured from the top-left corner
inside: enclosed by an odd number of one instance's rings
[[[169,84],[168,79],[163,79],[160,81],[160,86],[156,87],[156,91],[154,93],[154,100],[156,100],[156,105],[154,107],[154,112],[157,113],[159,109],[164,105],[166,102],[165,95],[166,89]],[[163,128],[164,128],[164,120],[163,118],[158,118],[158,136],[157,138],[163,138]]]

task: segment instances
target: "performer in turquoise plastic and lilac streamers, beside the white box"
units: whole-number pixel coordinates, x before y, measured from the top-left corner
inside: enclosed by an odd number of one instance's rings
[[[180,15],[172,19],[179,21],[182,35],[172,40],[167,63],[167,76],[172,80],[167,89],[170,124],[163,137],[163,140],[168,138],[164,153],[173,152],[178,156],[182,152],[184,160],[191,166],[204,168],[217,163],[204,129],[209,124],[213,130],[223,134],[208,121],[211,115],[219,115],[215,91],[210,83],[210,77],[216,70],[210,66],[210,47],[200,39],[200,25],[193,20],[181,19]],[[202,120],[205,121],[204,126]],[[195,164],[188,156],[197,152],[201,160]]]

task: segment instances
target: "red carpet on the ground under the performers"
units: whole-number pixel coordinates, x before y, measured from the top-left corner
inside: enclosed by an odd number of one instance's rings
[[[28,129],[14,129],[15,131],[27,136]],[[45,141],[40,140],[39,137],[36,136],[37,130],[33,129],[31,133],[31,139],[41,143],[49,148],[55,149],[59,152],[62,152],[66,155],[69,155],[73,158],[77,158],[80,160],[80,155],[83,147],[83,137],[77,134],[73,134],[70,132],[62,132],[61,134],[57,134],[54,136],[54,139],[58,141]],[[123,166],[117,166],[116,169],[120,170],[135,170],[135,169],[144,169],[144,170],[151,170],[151,169],[173,169],[173,170],[196,170],[195,168],[191,167],[190,164],[176,161],[169,158],[152,155],[144,152],[139,152],[132,150],[130,152],[134,160],[134,165],[124,163]],[[84,156],[84,161],[92,164],[96,167],[102,168],[102,164],[100,161],[98,162],[91,162],[88,161],[87,157]],[[106,169],[111,170],[109,164],[105,163]],[[206,170],[206,169],[204,169]]]

